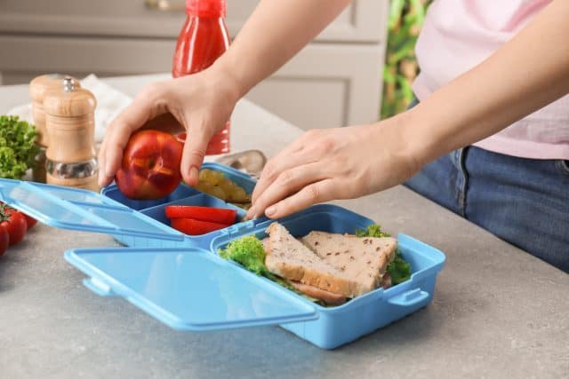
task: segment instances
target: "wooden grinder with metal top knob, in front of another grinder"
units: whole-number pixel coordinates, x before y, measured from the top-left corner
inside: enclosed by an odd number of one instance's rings
[[[49,136],[45,170],[47,183],[98,191],[94,144],[94,111],[90,91],[67,76],[60,87],[44,95],[45,129]]]

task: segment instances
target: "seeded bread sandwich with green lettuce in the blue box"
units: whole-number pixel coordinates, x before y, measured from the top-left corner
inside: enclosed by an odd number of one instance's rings
[[[394,276],[410,275],[410,265],[397,252],[397,239],[381,233],[378,225],[359,232],[362,237],[313,231],[296,239],[277,222],[266,232],[263,241],[245,236],[229,242],[220,257],[319,304],[340,305],[375,288],[389,288]],[[392,265],[396,258],[409,272],[393,272],[401,269]]]

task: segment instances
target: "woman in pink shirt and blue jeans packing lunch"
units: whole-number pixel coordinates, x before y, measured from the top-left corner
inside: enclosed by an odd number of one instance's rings
[[[261,1],[212,67],[150,85],[116,118],[100,150],[100,185],[114,177],[132,132],[167,112],[192,135],[181,170],[196,184],[205,146],[236,101],[349,3]],[[283,217],[408,180],[569,272],[566,20],[566,0],[435,1],[417,45],[421,102],[381,122],[308,131],[268,162],[248,216]]]

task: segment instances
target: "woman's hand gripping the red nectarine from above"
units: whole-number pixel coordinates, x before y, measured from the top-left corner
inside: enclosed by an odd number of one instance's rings
[[[107,186],[115,178],[124,147],[134,131],[148,128],[148,122],[157,120],[160,115],[172,114],[188,133],[180,164],[181,175],[188,185],[195,186],[205,149],[213,135],[225,126],[239,96],[231,76],[214,67],[149,84],[108,125],[99,152],[99,185]],[[172,131],[172,124],[154,124],[153,129]]]

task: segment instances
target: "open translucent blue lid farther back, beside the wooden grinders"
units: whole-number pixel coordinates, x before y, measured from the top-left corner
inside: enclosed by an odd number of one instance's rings
[[[0,201],[62,229],[184,240],[183,233],[89,190],[0,178]]]

